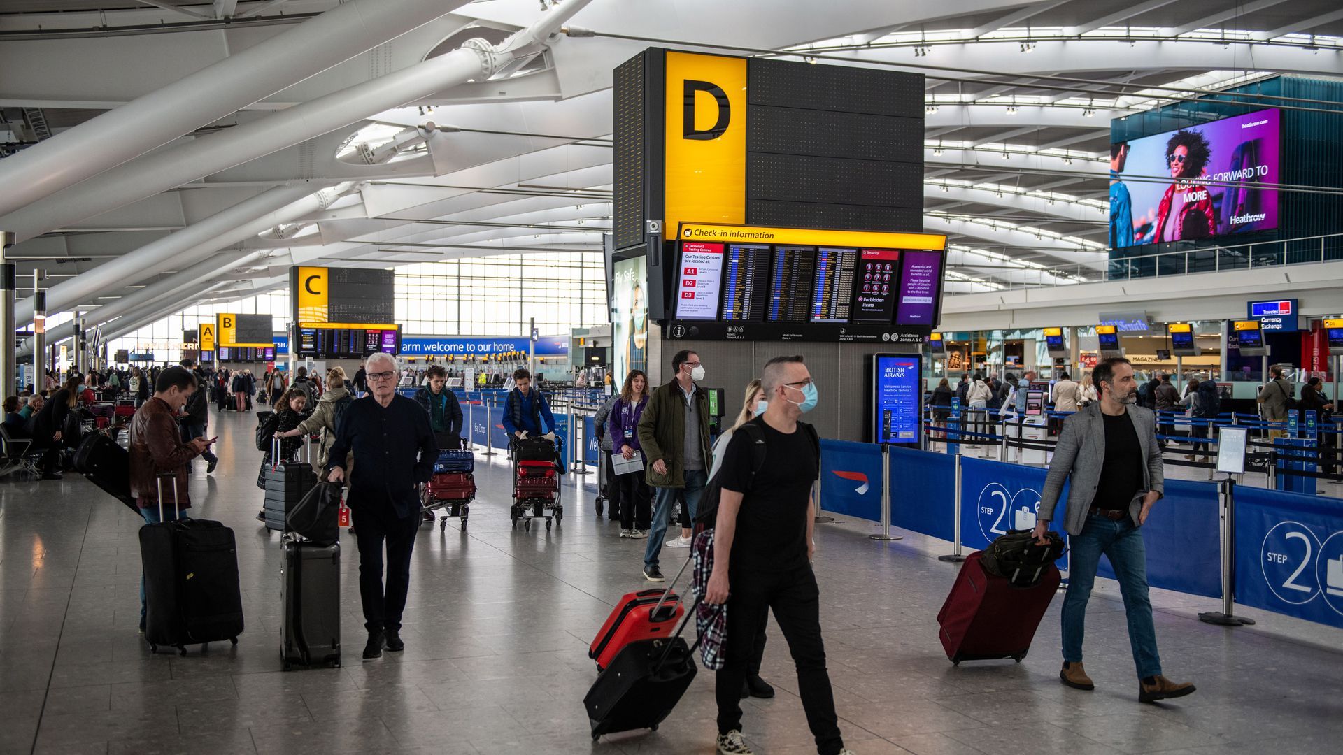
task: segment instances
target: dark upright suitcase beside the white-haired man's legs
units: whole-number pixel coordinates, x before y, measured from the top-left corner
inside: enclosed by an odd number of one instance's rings
[[[340,666],[340,543],[285,540],[279,578],[282,668]]]

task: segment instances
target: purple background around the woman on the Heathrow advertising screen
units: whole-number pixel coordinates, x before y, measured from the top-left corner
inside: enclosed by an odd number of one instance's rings
[[[1281,181],[1279,116],[1277,110],[1257,110],[1185,129],[1201,133],[1210,148],[1207,165],[1201,175],[1182,179],[1183,191],[1191,197],[1186,199],[1186,204],[1199,204],[1202,191],[1206,189],[1213,223],[1209,234],[1182,238],[1225,236],[1277,227],[1277,192],[1257,185]],[[1128,192],[1133,238],[1131,245],[1124,243],[1127,239],[1123,236],[1112,239],[1116,247],[1170,240],[1159,238],[1159,234],[1163,220],[1160,206],[1167,189],[1172,187],[1172,180],[1167,180],[1171,169],[1166,161],[1166,145],[1174,133],[1175,130],[1170,130],[1128,141],[1128,157],[1117,177]],[[1222,185],[1207,185],[1203,181]],[[1123,202],[1116,200],[1116,187],[1112,187],[1112,227],[1123,227],[1124,218],[1119,216],[1121,212]],[[1166,220],[1170,223],[1172,219]]]

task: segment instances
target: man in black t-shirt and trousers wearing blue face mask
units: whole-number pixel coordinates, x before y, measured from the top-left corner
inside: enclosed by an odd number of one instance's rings
[[[770,402],[751,420],[764,438],[763,466],[755,469],[752,433],[733,433],[724,454],[723,492],[714,524],[709,605],[727,603],[725,665],[719,670],[719,754],[751,755],[741,739],[741,684],[760,622],[774,609],[798,666],[798,689],[821,755],[842,755],[826,650],[821,641],[821,591],[811,571],[815,545],[813,489],[821,458],[802,412],[817,406],[817,387],[800,356],[764,365],[761,390]]]

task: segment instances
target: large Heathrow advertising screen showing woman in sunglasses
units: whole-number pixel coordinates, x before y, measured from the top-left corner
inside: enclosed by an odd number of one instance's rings
[[[1109,246],[1277,228],[1279,110],[1111,145]]]

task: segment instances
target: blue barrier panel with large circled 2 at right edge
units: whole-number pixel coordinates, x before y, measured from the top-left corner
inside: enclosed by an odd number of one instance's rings
[[[1343,509],[1236,488],[1236,602],[1343,629]]]

